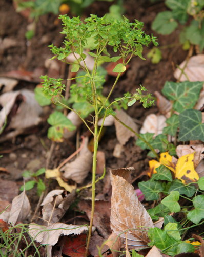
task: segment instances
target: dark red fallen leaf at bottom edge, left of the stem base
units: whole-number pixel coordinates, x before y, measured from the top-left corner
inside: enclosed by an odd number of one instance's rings
[[[67,236],[62,253],[72,257],[84,257],[86,252],[86,234]],[[89,255],[89,253],[88,253]]]

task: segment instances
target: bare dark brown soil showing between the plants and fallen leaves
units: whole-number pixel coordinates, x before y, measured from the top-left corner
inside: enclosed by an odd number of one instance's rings
[[[109,6],[110,3],[106,1],[95,2],[85,10],[84,15],[88,16],[90,13],[103,15],[108,12]],[[161,90],[166,81],[175,81],[173,71],[176,65],[180,64],[187,56],[187,52],[183,51],[178,43],[179,29],[169,36],[161,36],[151,30],[151,23],[154,17],[165,8],[163,2],[151,3],[144,0],[124,0],[125,15],[128,19],[131,21],[137,19],[144,22],[145,32],[147,34],[153,33],[158,37],[159,46],[165,47],[161,49],[162,60],[158,64],[152,64],[148,58],[146,61],[137,57],[133,58],[130,68],[121,77],[113,97],[121,96],[125,91],[134,92],[140,84],[154,94],[154,91]],[[59,33],[61,26],[57,21],[57,16],[47,14],[40,17],[37,23],[36,35],[31,41],[25,39],[28,20],[15,11],[11,0],[0,0],[0,17],[0,41],[9,38],[15,42],[14,46],[7,49],[1,49],[0,46],[0,76],[2,77],[7,72],[16,70],[21,70],[24,75],[26,72],[31,72],[32,76],[29,77],[29,81],[21,77],[15,90],[22,88],[33,90],[37,82],[39,82],[39,76],[47,74],[45,60],[51,57],[48,45],[51,43],[57,46],[62,44],[63,35]],[[174,47],[171,47],[172,44],[174,44]],[[145,57],[148,51],[148,48],[144,49]],[[64,78],[67,77],[67,70],[65,68],[62,74]],[[109,76],[104,87],[105,94],[112,80],[113,78]],[[13,180],[18,185],[22,185],[23,178],[21,174],[23,171],[36,171],[46,166],[48,150],[51,146],[51,141],[47,138],[49,125],[46,119],[51,111],[52,107],[45,107],[43,122],[40,125],[25,134],[1,143],[0,155],[3,155],[3,158],[0,159],[0,167],[4,167],[8,171],[0,173],[2,179]],[[141,126],[142,121],[148,114],[157,112],[157,107],[144,109],[139,103],[136,103],[127,112]],[[81,133],[84,131],[85,128],[82,128]],[[135,168],[134,176],[136,177],[147,168],[146,152],[135,145],[135,139],[131,138],[124,146],[123,155],[120,158],[112,155],[116,143],[115,128],[107,128],[104,137],[99,143],[99,150],[105,152],[107,170],[133,166]],[[75,146],[75,137],[69,142],[56,143],[48,168],[57,167],[60,162],[75,151]],[[86,179],[86,182],[90,182],[90,180],[91,174]],[[100,187],[103,187],[103,183],[98,185],[97,193],[100,192]],[[50,187],[51,189],[58,188],[55,182]],[[32,210],[34,211],[38,197],[35,197],[33,192],[30,192],[28,196],[32,199]]]

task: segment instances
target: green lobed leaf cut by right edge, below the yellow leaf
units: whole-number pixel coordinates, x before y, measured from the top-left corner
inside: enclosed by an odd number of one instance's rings
[[[194,210],[189,211],[187,218],[197,224],[204,218],[204,195],[198,195],[193,198]]]

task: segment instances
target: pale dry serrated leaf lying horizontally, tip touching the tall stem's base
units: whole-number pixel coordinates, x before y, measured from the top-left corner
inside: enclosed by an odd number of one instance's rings
[[[93,228],[94,230],[95,228]],[[78,235],[88,231],[88,226],[78,226],[64,223],[54,223],[49,226],[41,226],[36,223],[29,225],[29,234],[40,244],[55,245],[60,235]]]

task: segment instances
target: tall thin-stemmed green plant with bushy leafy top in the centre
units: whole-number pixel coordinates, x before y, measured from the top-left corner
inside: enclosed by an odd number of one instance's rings
[[[112,103],[109,102],[111,94],[118,82],[120,75],[126,70],[127,64],[130,62],[133,56],[142,57],[142,46],[148,46],[151,42],[157,46],[157,42],[154,36],[149,36],[142,31],[143,23],[135,20],[131,23],[126,17],[123,20],[110,20],[104,17],[97,17],[97,15],[91,15],[89,18],[81,21],[79,17],[73,17],[72,19],[66,15],[60,15],[60,19],[63,21],[63,31],[65,34],[64,47],[56,47],[51,45],[51,51],[55,54],[58,60],[62,60],[72,65],[72,72],[77,72],[79,68],[84,70],[84,74],[76,78],[85,78],[86,87],[73,87],[72,94],[76,90],[76,94],[86,95],[86,101],[92,105],[94,109],[93,125],[94,131],[91,130],[86,120],[80,116],[80,112],[71,108],[70,106],[62,103],[58,96],[62,96],[65,86],[62,85],[60,79],[49,79],[47,76],[42,76],[44,79],[44,94],[50,99],[54,98],[57,105],[61,105],[65,108],[74,111],[83,120],[88,130],[94,136],[94,151],[93,151],[93,168],[92,168],[92,211],[90,219],[90,229],[87,240],[87,249],[90,242],[91,230],[93,225],[93,214],[94,214],[94,199],[95,199],[95,178],[96,178],[96,154],[98,149],[98,138],[103,128],[104,120],[108,115],[115,116],[115,112],[112,107],[114,104],[125,101],[128,106],[131,106],[139,100],[143,103],[144,107],[149,107],[154,101],[151,100],[149,94],[142,95],[144,87],[136,90],[136,93],[125,94],[124,97],[116,99]],[[94,52],[85,53],[83,47],[87,43],[87,39],[92,39],[94,44],[91,48]],[[117,56],[111,57],[110,52],[114,51]],[[69,54],[73,54],[75,57],[74,63],[69,63],[66,57]],[[90,71],[86,64],[87,54],[94,57],[93,70]],[[54,57],[54,58],[55,58]],[[101,62],[116,62],[121,59],[122,62],[117,64],[113,69],[117,73],[117,77],[109,91],[107,97],[101,97],[101,76],[98,72],[98,66]],[[103,78],[102,78],[103,79]],[[74,89],[75,88],[75,89]],[[102,125],[98,128],[98,119],[103,118]],[[117,117],[116,117],[117,119]],[[123,122],[121,122],[123,123]],[[124,124],[126,125],[126,124]],[[127,126],[126,126],[127,127]]]

